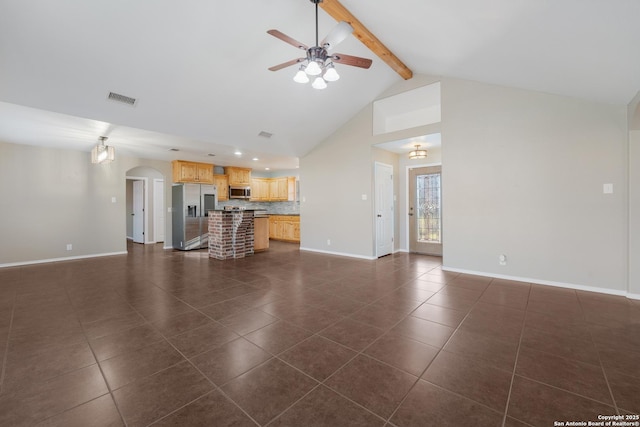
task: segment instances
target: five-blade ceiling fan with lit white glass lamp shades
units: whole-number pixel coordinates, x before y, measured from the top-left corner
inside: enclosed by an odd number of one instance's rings
[[[274,65],[273,67],[270,67],[269,70],[278,71],[282,68],[290,67],[291,65],[301,64],[300,69],[293,80],[298,83],[308,83],[308,76],[316,76],[311,86],[314,89],[324,89],[327,87],[327,82],[333,82],[340,78],[340,75],[338,75],[338,72],[334,67],[334,63],[351,65],[353,67],[369,68],[372,62],[370,59],[345,55],[342,53],[329,53],[331,49],[346,39],[353,32],[353,27],[345,21],[340,21],[338,25],[331,30],[327,37],[325,37],[322,42],[318,43],[318,3],[321,3],[322,0],[310,1],[316,5],[316,44],[309,47],[278,30],[267,31],[267,33],[272,36],[307,52],[307,55],[304,58],[296,58],[291,61],[283,62],[282,64]]]

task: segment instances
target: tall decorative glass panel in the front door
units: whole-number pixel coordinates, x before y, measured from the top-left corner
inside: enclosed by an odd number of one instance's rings
[[[441,243],[440,174],[418,175],[416,189],[418,241]]]

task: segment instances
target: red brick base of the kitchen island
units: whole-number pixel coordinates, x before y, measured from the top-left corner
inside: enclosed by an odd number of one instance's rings
[[[252,210],[209,211],[209,258],[220,260],[253,255]]]

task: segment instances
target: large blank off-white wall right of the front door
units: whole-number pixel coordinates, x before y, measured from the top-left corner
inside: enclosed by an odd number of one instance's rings
[[[444,82],[444,266],[624,293],[626,114],[622,106]],[[605,183],[613,194],[603,194]]]

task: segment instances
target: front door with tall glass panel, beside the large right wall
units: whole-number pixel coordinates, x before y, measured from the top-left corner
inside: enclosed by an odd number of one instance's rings
[[[409,170],[409,250],[442,256],[440,166]]]

